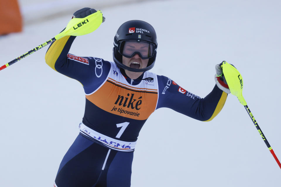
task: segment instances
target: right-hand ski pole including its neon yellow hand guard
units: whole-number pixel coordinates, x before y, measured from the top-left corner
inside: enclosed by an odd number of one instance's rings
[[[232,95],[237,96],[238,100],[240,101],[240,103],[242,105],[244,105],[244,108],[247,110],[249,116],[251,117],[254,125],[256,126],[259,134],[261,135],[261,137],[263,138],[264,143],[266,144],[266,146],[268,147],[268,149],[270,150],[270,153],[273,155],[274,159],[276,160],[277,164],[279,165],[280,169],[281,169],[281,164],[280,161],[278,160],[277,156],[275,155],[272,147],[270,146],[270,144],[268,143],[267,139],[265,138],[265,135],[263,134],[263,132],[261,131],[261,128],[258,126],[258,122],[256,121],[256,119],[254,118],[251,110],[249,109],[243,95],[242,95],[242,90],[243,90],[243,78],[240,74],[240,72],[231,64],[223,61],[222,62],[222,70],[223,70],[223,74],[225,75],[225,79],[227,81],[228,87],[230,89],[230,92],[232,93]]]

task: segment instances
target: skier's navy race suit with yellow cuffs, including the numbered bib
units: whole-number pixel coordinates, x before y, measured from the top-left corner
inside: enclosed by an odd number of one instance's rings
[[[74,39],[54,41],[45,56],[50,67],[83,85],[86,99],[80,133],[59,166],[54,186],[128,187],[138,134],[154,110],[166,107],[210,121],[226,101],[227,93],[216,85],[200,98],[151,72],[130,79],[114,62],[69,54]]]

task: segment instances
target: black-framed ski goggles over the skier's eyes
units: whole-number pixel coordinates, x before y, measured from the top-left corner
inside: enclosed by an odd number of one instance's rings
[[[148,41],[123,40],[120,42],[119,53],[127,58],[132,58],[136,54],[142,59],[154,56],[155,44]]]

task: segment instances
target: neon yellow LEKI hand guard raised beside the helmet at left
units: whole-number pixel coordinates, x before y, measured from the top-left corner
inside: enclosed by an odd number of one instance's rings
[[[64,36],[81,36],[95,31],[102,24],[102,11],[97,11],[85,18],[71,19],[65,30],[55,36],[61,39]]]

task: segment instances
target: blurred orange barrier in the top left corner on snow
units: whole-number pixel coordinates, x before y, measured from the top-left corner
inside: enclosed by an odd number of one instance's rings
[[[0,0],[0,35],[22,31],[22,17],[17,0]]]

